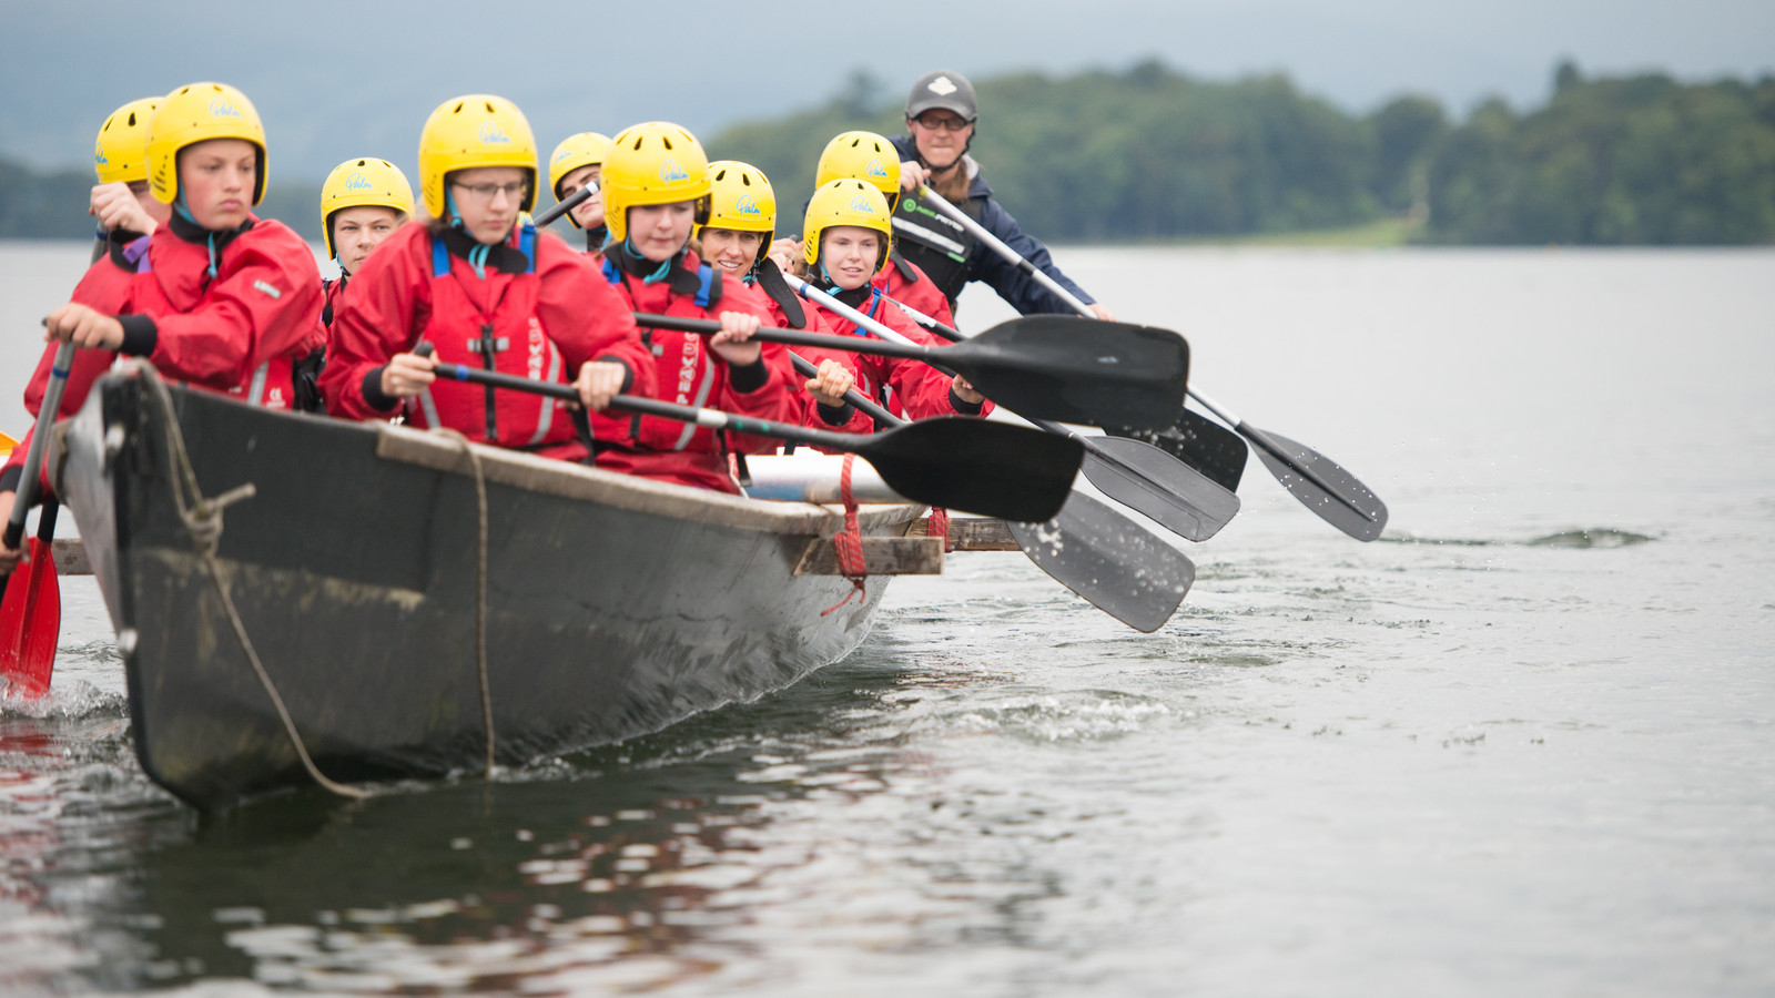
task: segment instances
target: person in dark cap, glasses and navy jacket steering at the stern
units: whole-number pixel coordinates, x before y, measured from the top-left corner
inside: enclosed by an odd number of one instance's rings
[[[895,206],[895,234],[900,254],[918,265],[943,289],[955,307],[957,295],[969,281],[980,281],[999,293],[1022,314],[1070,313],[1065,302],[1054,298],[1033,277],[1006,263],[1001,256],[974,240],[967,229],[943,213],[919,204],[919,185],[930,185],[939,197],[955,204],[989,233],[1003,240],[1019,256],[1045,272],[1063,288],[1086,302],[1097,318],[1111,320],[1109,309],[1099,305],[1070,277],[1054,266],[1047,247],[1017,227],[980,174],[980,163],[967,154],[978,128],[974,85],[967,76],[937,69],[912,83],[905,101],[905,135],[893,139],[900,153],[900,188],[905,195]]]

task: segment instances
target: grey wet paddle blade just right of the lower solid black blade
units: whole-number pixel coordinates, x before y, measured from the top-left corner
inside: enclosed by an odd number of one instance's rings
[[[1104,495],[1186,540],[1207,540],[1239,511],[1239,497],[1143,440],[1085,437],[1085,478]]]

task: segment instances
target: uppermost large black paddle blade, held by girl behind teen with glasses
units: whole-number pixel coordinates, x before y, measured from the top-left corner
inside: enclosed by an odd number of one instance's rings
[[[1145,325],[1022,316],[935,350],[934,362],[1030,419],[1164,426],[1184,405],[1189,345]]]

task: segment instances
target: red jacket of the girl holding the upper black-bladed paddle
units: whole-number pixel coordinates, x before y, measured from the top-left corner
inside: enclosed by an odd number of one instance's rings
[[[651,284],[625,272],[627,259],[619,245],[611,247],[604,257],[604,275],[637,313],[710,320],[719,320],[721,313],[751,313],[770,321],[769,305],[751,288],[721,268],[705,265],[694,252],[676,257],[669,273]],[[761,345],[761,369],[731,371],[703,336],[646,329],[643,339],[653,352],[653,398],[777,423],[797,421],[792,389],[799,382],[793,380],[795,373],[781,345]],[[731,494],[738,494],[740,487],[728,471],[728,453],[756,455],[779,446],[779,440],[769,437],[717,433],[705,426],[616,410],[593,414],[591,423],[600,446],[598,467]]]

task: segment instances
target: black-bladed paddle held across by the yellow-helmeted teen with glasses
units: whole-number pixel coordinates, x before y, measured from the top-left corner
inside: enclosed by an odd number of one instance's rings
[[[437,375],[579,401],[579,391],[573,385],[483,371],[463,364],[438,364]],[[630,394],[616,396],[611,405],[678,423],[696,423],[712,430],[733,430],[850,451],[868,460],[889,488],[914,503],[966,510],[1003,520],[1045,520],[1058,513],[1072,492],[1072,478],[1079,471],[1081,458],[1079,446],[1069,440],[1054,440],[1021,426],[982,419],[925,419],[861,435],[831,433]]]

